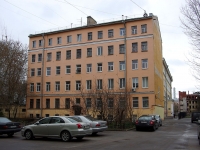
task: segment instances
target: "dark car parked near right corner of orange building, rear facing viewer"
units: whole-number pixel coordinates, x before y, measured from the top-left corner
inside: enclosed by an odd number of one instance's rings
[[[158,129],[158,121],[156,120],[154,115],[143,115],[140,116],[136,121],[135,121],[135,127],[136,130],[144,129],[144,128],[150,128],[153,131]]]

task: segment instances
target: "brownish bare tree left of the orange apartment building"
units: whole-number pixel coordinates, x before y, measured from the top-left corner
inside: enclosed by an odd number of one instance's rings
[[[25,103],[27,49],[19,41],[0,41],[0,107],[8,110],[9,118]]]

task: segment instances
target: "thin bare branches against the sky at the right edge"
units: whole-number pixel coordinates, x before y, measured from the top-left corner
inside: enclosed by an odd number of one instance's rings
[[[192,67],[193,76],[200,80],[200,1],[186,0],[186,5],[181,8],[181,13],[184,32],[193,46],[188,62]]]

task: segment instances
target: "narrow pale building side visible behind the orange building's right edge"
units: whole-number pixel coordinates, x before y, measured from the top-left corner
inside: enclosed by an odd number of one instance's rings
[[[174,114],[174,107],[173,100],[172,100],[172,82],[173,78],[170,73],[169,67],[167,62],[163,58],[163,84],[164,84],[164,108],[165,108],[165,117],[173,116]]]

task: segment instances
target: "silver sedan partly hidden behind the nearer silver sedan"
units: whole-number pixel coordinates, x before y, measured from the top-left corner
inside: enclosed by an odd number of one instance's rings
[[[108,129],[107,121],[96,120],[95,118],[91,116],[73,116],[73,118],[76,118],[77,121],[80,121],[80,122],[90,123],[93,135],[97,134],[98,132],[103,132]]]

